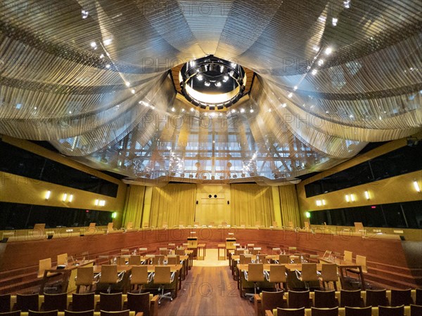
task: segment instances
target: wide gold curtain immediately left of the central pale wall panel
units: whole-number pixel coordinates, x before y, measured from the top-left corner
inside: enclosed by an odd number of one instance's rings
[[[193,225],[195,216],[196,185],[172,183],[153,188],[150,227]]]

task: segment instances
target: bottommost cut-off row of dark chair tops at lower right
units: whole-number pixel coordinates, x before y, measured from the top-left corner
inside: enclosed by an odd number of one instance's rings
[[[422,306],[397,306],[397,307],[366,307],[352,308],[277,308],[275,310],[266,310],[265,316],[421,316]]]

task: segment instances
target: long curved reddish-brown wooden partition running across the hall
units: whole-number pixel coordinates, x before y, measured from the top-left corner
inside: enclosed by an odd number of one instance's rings
[[[382,271],[396,271],[407,275],[409,284],[422,284],[422,262],[414,260],[418,256],[421,244],[408,246],[406,241],[397,239],[378,239],[359,237],[356,235],[333,235],[326,232],[295,232],[279,229],[241,229],[241,228],[186,228],[186,229],[143,229],[139,232],[116,233],[108,235],[90,235],[83,237],[68,237],[44,239],[25,242],[0,244],[0,272],[36,267],[43,258],[53,258],[58,254],[67,253],[77,256],[84,251],[89,252],[89,258],[99,254],[117,254],[120,249],[147,247],[148,252],[158,251],[160,246],[169,242],[182,244],[196,231],[198,242],[207,244],[207,249],[217,248],[224,243],[226,237],[236,238],[240,244],[254,243],[262,247],[262,252],[271,253],[272,247],[295,246],[300,251],[309,254],[324,254],[331,250],[343,254],[344,250],[366,256],[369,270],[382,275]],[[229,235],[234,233],[234,235]],[[394,279],[394,275],[390,279]]]

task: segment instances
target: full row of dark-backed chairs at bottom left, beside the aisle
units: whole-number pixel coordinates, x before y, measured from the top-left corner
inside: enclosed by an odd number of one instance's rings
[[[11,294],[0,295],[0,312],[11,312],[20,310],[34,312],[58,310],[71,310],[73,312],[82,312],[85,310],[105,310],[121,311],[124,309],[133,310],[135,312],[143,312],[143,315],[156,315],[156,303],[158,296],[153,294],[122,294],[101,293],[95,295],[88,294],[72,294],[71,296],[63,294]]]

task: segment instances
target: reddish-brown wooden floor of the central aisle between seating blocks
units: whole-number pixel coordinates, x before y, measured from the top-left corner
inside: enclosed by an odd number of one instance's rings
[[[159,315],[255,315],[253,303],[241,298],[231,270],[225,267],[192,267],[172,302],[162,300]]]

